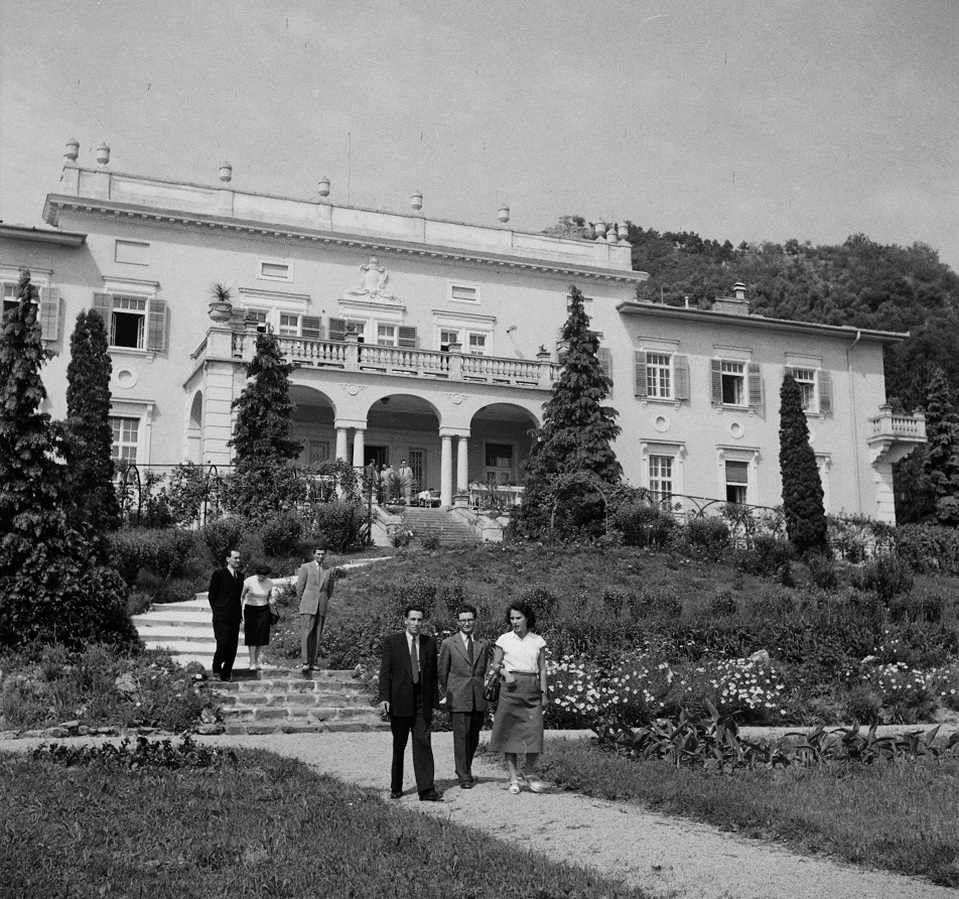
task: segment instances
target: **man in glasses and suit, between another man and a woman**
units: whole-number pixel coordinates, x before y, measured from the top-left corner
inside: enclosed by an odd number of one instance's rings
[[[456,613],[459,633],[447,637],[440,646],[438,671],[440,693],[446,695],[446,710],[453,722],[456,779],[463,790],[473,787],[473,756],[487,708],[483,687],[489,665],[489,641],[473,637],[476,616],[473,606],[460,606]]]

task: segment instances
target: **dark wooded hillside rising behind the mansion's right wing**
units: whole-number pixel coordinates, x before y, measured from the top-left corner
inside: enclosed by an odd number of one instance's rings
[[[564,216],[544,233],[589,239],[592,228],[579,216]],[[959,406],[959,274],[928,245],[879,244],[863,234],[839,245],[734,244],[632,223],[628,234],[633,268],[649,273],[637,288],[640,299],[681,306],[688,298],[690,306],[708,309],[742,281],[751,310],[770,318],[908,331],[908,340],[886,351],[889,402],[925,409],[941,369]],[[918,461],[901,466],[913,482],[910,472],[922,469]],[[908,494],[915,496],[915,489]],[[929,511],[911,505],[906,520]]]

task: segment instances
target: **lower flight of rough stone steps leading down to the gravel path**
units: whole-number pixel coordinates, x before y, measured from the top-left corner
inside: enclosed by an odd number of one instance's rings
[[[384,730],[366,686],[351,671],[265,669],[230,683],[210,682],[227,734]]]

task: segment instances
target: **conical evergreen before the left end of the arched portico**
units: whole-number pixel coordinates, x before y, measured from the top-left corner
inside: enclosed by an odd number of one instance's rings
[[[249,384],[233,401],[236,425],[230,446],[236,450],[228,502],[233,511],[258,520],[295,502],[291,463],[302,444],[291,440],[290,375],[276,336],[257,335],[256,355],[246,366]]]

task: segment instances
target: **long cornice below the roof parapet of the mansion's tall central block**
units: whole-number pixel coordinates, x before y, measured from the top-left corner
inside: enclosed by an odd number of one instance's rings
[[[177,209],[162,209],[133,203],[121,203],[115,200],[75,197],[66,194],[47,195],[47,200],[43,208],[43,218],[51,224],[56,224],[60,219],[60,213],[66,209],[81,215],[113,216],[114,218],[126,218],[153,225],[160,224],[174,227],[213,229],[235,235],[274,237],[281,240],[303,243],[309,242],[329,246],[355,247],[372,252],[387,251],[396,254],[419,256],[421,258],[469,262],[476,265],[490,265],[501,268],[525,269],[528,271],[543,272],[545,274],[590,278],[597,281],[636,284],[645,281],[649,277],[646,272],[598,268],[588,265],[574,266],[553,259],[535,259],[509,256],[501,253],[484,253],[468,248],[397,240],[385,236],[321,231],[312,228],[270,224],[229,216],[196,214]]]

